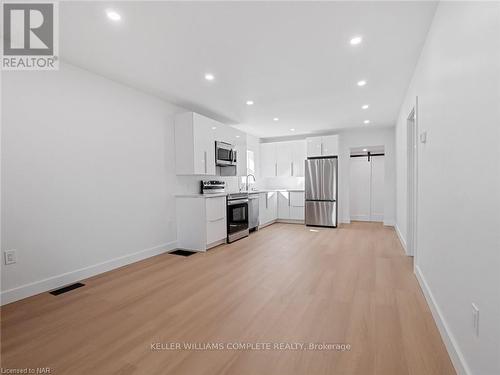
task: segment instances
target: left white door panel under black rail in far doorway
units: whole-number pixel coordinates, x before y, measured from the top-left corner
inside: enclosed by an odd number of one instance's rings
[[[367,157],[350,160],[351,220],[370,220],[370,162]]]

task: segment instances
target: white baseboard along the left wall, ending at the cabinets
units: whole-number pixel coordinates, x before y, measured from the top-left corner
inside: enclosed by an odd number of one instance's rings
[[[47,292],[52,289],[60,288],[64,285],[74,283],[89,277],[111,271],[115,268],[126,266],[127,264],[135,263],[140,260],[150,258],[155,255],[163,254],[177,247],[177,242],[172,241],[162,245],[158,245],[149,249],[141,250],[136,253],[124,255],[122,257],[107,260],[102,263],[92,266],[80,268],[75,271],[66,272],[61,275],[49,277],[40,281],[25,284],[5,290],[0,294],[0,306],[18,301],[23,298],[34,296],[35,294]]]

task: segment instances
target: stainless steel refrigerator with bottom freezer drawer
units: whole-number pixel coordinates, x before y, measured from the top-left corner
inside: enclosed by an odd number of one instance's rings
[[[337,158],[306,160],[306,225],[337,227]]]

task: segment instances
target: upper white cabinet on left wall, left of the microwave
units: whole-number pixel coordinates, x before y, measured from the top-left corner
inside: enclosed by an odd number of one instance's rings
[[[224,126],[194,112],[175,117],[175,168],[178,175],[215,175],[215,130]]]

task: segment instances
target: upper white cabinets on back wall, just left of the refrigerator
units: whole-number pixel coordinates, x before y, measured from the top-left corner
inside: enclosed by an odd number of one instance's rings
[[[306,159],[305,141],[262,143],[262,177],[302,177]]]

